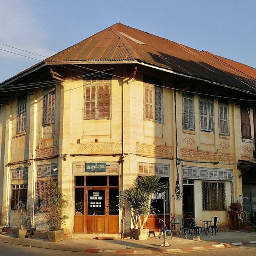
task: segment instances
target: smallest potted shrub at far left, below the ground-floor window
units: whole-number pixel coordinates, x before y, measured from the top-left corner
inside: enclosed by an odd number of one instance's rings
[[[25,202],[19,201],[15,206],[16,210],[16,225],[18,226],[17,237],[25,238],[28,228],[28,218]]]

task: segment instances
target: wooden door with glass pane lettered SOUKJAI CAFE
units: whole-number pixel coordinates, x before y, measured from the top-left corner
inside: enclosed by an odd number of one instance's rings
[[[107,188],[86,188],[85,232],[104,234],[108,230]]]

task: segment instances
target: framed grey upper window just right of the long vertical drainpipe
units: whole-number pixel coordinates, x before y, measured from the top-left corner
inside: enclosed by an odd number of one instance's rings
[[[188,110],[185,112],[185,102],[184,100],[188,100],[187,106]],[[191,106],[192,105],[192,112],[191,112]],[[185,121],[185,116],[187,115],[187,124]],[[192,115],[192,116],[191,116]],[[191,121],[192,119],[192,121]],[[183,129],[186,130],[195,130],[195,108],[194,108],[194,94],[182,95],[182,124],[183,124]]]

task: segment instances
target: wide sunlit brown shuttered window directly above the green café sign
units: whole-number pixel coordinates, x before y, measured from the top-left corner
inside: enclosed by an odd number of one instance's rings
[[[109,75],[84,80],[84,119],[110,119],[110,88]]]

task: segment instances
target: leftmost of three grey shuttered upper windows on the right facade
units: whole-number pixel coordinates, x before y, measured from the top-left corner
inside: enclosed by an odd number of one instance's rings
[[[183,128],[195,130],[194,98],[183,96]]]

